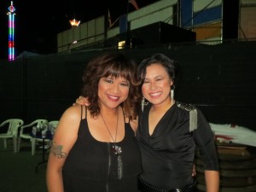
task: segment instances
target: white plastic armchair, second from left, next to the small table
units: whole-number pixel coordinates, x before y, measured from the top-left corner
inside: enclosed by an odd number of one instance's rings
[[[47,119],[36,119],[36,120],[32,121],[32,123],[30,123],[28,125],[22,125],[21,126],[21,128],[20,128],[20,137],[18,139],[18,151],[20,151],[21,139],[29,139],[30,142],[32,143],[32,155],[35,154],[36,140],[38,140],[38,139],[31,136],[32,127],[33,126],[39,127],[39,125],[41,125],[41,124],[48,125],[48,120]]]

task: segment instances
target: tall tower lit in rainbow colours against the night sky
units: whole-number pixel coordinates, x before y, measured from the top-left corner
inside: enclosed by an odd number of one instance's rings
[[[15,7],[13,6],[13,2],[11,1],[11,5],[8,8],[9,12],[9,61],[15,60]]]

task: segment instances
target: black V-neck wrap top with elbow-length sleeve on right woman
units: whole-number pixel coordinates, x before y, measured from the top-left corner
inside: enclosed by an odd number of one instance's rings
[[[195,146],[199,148],[206,170],[218,171],[218,156],[210,125],[197,109],[197,129],[189,131],[189,110],[177,102],[169,108],[153,134],[148,133],[148,104],[140,116],[137,140],[141,148],[145,182],[163,190],[192,184]]]

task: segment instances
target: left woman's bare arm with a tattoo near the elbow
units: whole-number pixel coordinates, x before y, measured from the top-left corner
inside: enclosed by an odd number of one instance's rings
[[[62,114],[55,131],[46,171],[46,182],[49,192],[64,192],[62,166],[77,139],[80,112],[79,105],[68,108]]]

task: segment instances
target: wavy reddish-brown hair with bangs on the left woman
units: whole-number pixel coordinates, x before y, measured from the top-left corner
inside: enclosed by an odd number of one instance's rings
[[[98,83],[100,79],[113,76],[114,78],[125,78],[129,82],[129,95],[121,106],[125,117],[136,119],[142,99],[136,70],[136,62],[119,52],[104,53],[90,60],[84,71],[84,87],[82,89],[82,96],[87,97],[88,102],[90,102],[88,107],[90,114],[96,116],[101,111],[101,104],[98,98]]]

